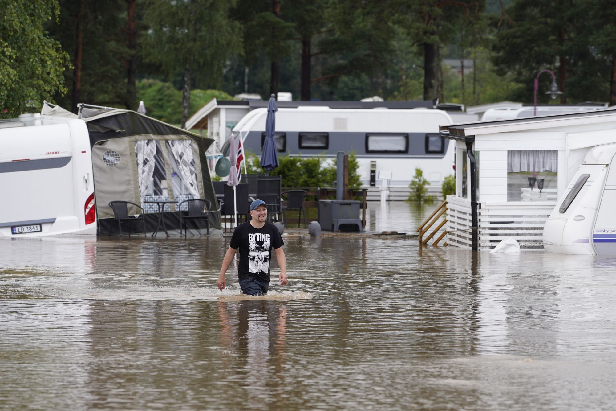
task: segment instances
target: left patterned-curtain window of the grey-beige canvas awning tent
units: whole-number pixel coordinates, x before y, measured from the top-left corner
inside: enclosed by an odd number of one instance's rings
[[[144,202],[148,199],[168,200],[167,173],[160,141],[135,141],[135,157],[141,201]],[[158,205],[156,204],[143,204],[143,207],[147,213],[158,212]]]

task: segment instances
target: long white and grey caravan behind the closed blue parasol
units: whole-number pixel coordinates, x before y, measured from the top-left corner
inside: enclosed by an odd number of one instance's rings
[[[261,154],[267,109],[255,109],[233,128],[245,151]],[[275,141],[280,154],[323,156],[354,152],[362,185],[375,185],[380,171],[391,172],[391,186],[408,186],[415,167],[431,185],[453,173],[454,146],[439,134],[439,125],[452,122],[434,109],[330,109],[300,106],[278,109]],[[228,146],[222,147],[228,152]]]

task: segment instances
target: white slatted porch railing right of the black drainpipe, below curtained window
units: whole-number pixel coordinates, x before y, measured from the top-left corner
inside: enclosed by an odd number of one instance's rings
[[[556,201],[482,202],[479,249],[489,250],[513,237],[523,249],[543,248],[543,227]]]

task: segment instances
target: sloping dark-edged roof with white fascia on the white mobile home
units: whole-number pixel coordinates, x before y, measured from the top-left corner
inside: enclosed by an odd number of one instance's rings
[[[542,115],[537,117],[513,118],[511,120],[494,120],[488,122],[459,123],[440,126],[440,133],[445,138],[465,139],[469,136],[533,129],[564,127],[568,125],[594,124],[616,121],[616,107],[606,110],[581,112],[573,114]]]

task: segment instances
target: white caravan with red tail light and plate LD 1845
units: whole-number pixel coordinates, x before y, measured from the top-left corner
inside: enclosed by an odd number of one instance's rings
[[[0,238],[96,235],[83,120],[25,114],[0,121]]]

